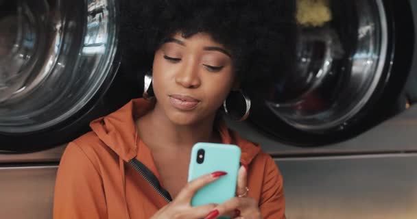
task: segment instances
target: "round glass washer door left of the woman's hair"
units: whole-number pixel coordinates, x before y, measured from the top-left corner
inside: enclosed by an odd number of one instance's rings
[[[111,108],[102,97],[119,66],[115,0],[0,0],[0,30],[1,151],[64,143],[97,105]]]

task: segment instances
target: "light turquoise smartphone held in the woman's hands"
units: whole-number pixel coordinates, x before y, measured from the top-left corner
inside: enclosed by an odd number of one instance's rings
[[[193,146],[188,181],[215,171],[224,171],[227,175],[198,190],[191,199],[191,206],[224,203],[235,196],[240,155],[239,146],[234,144],[199,142]]]

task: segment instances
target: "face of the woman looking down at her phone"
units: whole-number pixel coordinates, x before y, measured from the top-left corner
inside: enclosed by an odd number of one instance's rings
[[[156,110],[178,125],[214,119],[235,83],[230,53],[210,35],[176,34],[155,52]]]

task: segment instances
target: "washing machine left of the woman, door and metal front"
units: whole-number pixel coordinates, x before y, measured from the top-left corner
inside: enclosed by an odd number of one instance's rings
[[[0,218],[51,218],[65,144],[141,94],[115,0],[0,1]]]

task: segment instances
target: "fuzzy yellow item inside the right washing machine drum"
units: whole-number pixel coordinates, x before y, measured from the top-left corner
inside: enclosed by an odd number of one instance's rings
[[[321,27],[331,21],[329,0],[297,0],[296,19],[299,25]]]

